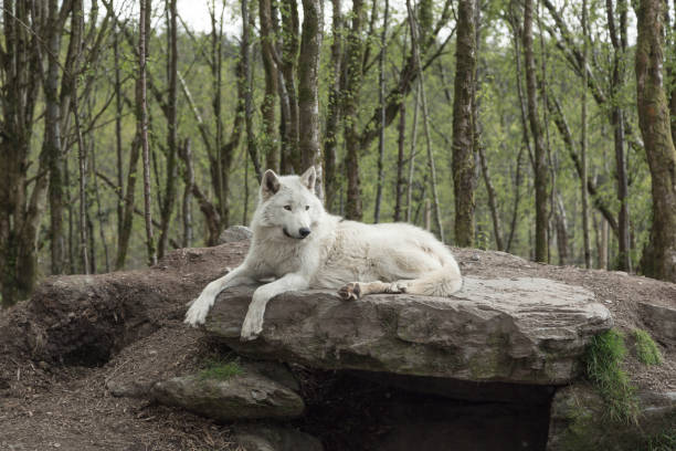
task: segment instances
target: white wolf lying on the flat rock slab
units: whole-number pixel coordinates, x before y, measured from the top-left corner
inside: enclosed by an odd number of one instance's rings
[[[339,289],[345,300],[372,293],[448,296],[462,287],[460,268],[431,233],[411,224],[365,224],[328,214],[315,192],[315,168],[278,177],[267,170],[244,262],[211,282],[192,303],[186,323],[203,324],[223,290],[276,277],[253,294],[241,338],[256,338],[267,302],[279,293]]]

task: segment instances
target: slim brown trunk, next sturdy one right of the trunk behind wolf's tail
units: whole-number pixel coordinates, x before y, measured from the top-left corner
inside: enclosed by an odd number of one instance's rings
[[[538,102],[536,97],[536,70],[532,53],[532,0],[524,1],[524,59],[526,61],[526,91],[528,99],[528,118],[530,132],[535,141],[535,189],[536,189],[536,234],[535,260],[547,261],[547,221],[548,221],[548,189],[549,172],[547,170],[547,155],[540,118],[538,116]]]

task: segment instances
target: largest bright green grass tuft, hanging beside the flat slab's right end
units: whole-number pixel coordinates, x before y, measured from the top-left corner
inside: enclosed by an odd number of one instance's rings
[[[625,355],[624,336],[620,332],[610,329],[596,335],[587,349],[587,376],[603,398],[611,420],[635,423],[636,388],[620,367]]]

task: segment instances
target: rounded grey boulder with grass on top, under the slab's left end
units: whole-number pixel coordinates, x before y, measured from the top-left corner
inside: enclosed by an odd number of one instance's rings
[[[246,370],[228,378],[173,377],[155,384],[150,397],[162,405],[219,421],[289,419],[305,410],[303,399],[295,391]]]

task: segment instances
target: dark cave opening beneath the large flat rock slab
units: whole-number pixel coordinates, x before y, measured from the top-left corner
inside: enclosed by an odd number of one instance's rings
[[[394,386],[379,376],[314,375],[303,384],[307,409],[294,424],[319,438],[326,451],[546,448],[553,387],[406,377],[398,377]],[[406,382],[415,391],[402,388]],[[432,389],[421,390],[425,385]]]

